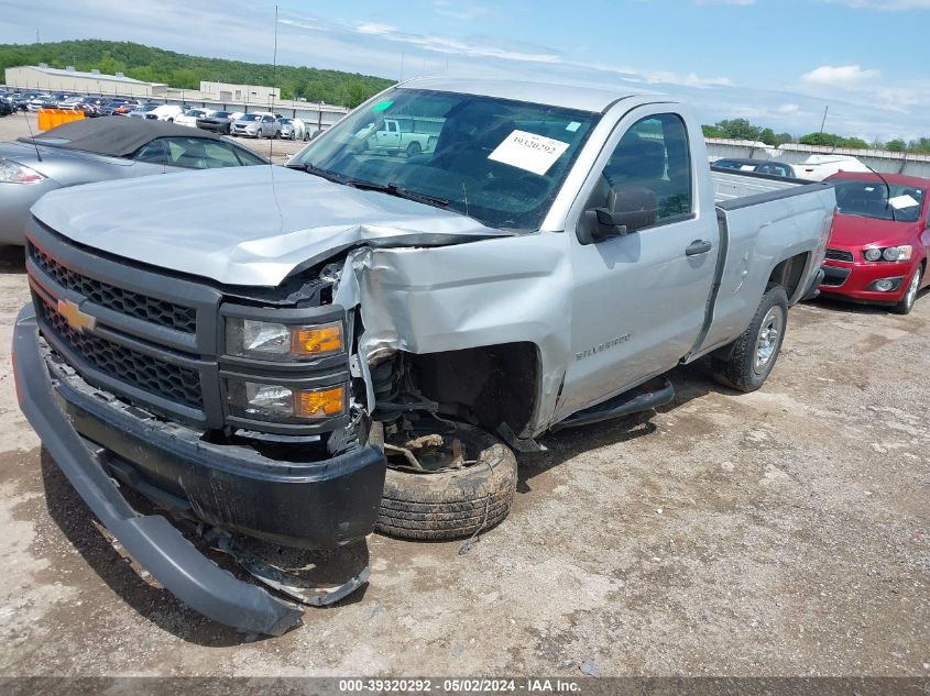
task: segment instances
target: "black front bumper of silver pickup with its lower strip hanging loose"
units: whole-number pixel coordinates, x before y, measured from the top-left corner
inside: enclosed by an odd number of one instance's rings
[[[332,548],[373,529],[385,469],[375,448],[311,465],[267,461],[277,465],[269,472],[217,457],[92,390],[53,384],[31,306],[17,319],[13,367],[20,408],[97,518],[172,594],[215,621],[278,636],[300,623],[302,610],[217,566],[166,518],[136,512],[112,476],[166,507],[278,543]],[[172,476],[179,496],[156,485]]]

